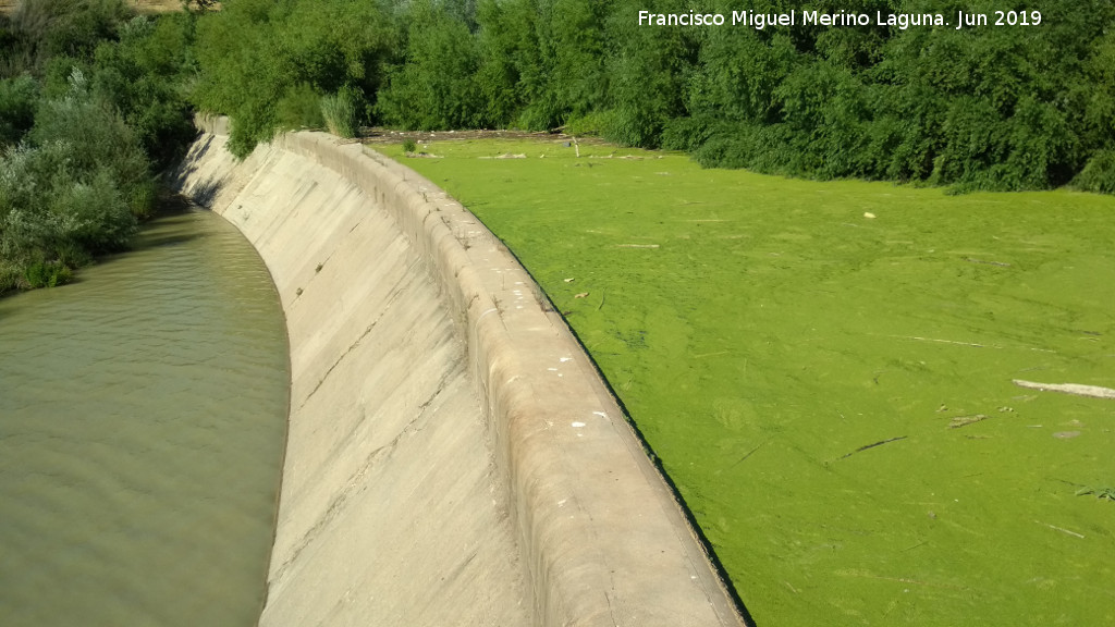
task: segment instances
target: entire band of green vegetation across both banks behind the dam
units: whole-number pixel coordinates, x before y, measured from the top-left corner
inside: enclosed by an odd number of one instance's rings
[[[232,117],[282,128],[565,128],[704,165],[1115,193],[1115,4],[1036,0],[1030,27],[648,27],[687,0],[225,0],[157,20],[120,0],[0,18],[0,291],[125,245],[153,174]],[[983,0],[816,10],[988,12]],[[709,0],[730,15],[791,0]]]

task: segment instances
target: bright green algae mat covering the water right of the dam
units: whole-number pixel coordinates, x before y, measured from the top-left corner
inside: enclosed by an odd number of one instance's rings
[[[550,295],[757,625],[1115,624],[1115,399],[1014,383],[1115,387],[1115,199],[426,149],[401,161]]]

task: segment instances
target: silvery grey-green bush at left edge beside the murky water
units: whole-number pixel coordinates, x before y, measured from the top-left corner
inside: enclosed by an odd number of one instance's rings
[[[132,129],[74,70],[0,155],[0,291],[60,284],[93,254],[127,247],[153,196]]]

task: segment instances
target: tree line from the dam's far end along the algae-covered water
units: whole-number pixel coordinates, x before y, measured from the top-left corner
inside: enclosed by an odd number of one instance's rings
[[[1030,27],[640,27],[687,0],[227,0],[202,25],[196,102],[246,152],[318,125],[565,127],[691,151],[705,165],[959,190],[1115,192],[1115,4],[1036,0]],[[705,9],[786,12],[791,0]],[[820,0],[821,11],[1004,9]]]

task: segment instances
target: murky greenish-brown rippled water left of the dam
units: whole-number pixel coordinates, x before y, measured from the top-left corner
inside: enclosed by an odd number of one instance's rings
[[[0,624],[254,625],[288,385],[271,279],[207,212],[0,299]]]

